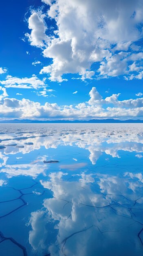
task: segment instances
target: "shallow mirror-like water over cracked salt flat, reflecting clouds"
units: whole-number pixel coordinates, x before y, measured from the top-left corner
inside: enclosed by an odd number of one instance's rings
[[[143,124],[0,124],[0,256],[141,256]]]

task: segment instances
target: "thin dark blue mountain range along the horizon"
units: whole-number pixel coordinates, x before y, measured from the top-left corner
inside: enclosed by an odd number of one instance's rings
[[[29,120],[29,119],[14,119],[14,120],[1,120],[0,121],[1,124],[51,124],[51,123],[57,123],[57,124],[68,124],[68,123],[73,123],[73,124],[82,124],[82,123],[86,123],[86,124],[98,124],[98,123],[143,123],[143,120],[133,120],[133,119],[129,119],[129,120],[119,120],[119,119],[91,119],[91,120],[74,120],[74,121],[70,121],[70,120],[46,120],[46,121],[40,121],[40,120]]]

